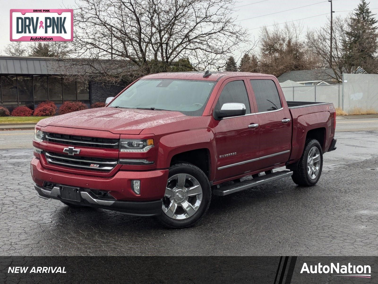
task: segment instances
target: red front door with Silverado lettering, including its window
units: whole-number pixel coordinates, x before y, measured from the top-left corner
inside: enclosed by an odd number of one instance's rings
[[[230,78],[223,82],[215,109],[222,108],[225,103],[243,103],[246,114],[220,120],[213,117],[217,147],[216,181],[251,172],[258,167],[256,162],[249,162],[259,150],[259,127],[251,125],[259,122],[256,115],[251,115],[254,106],[251,109],[245,78]]]

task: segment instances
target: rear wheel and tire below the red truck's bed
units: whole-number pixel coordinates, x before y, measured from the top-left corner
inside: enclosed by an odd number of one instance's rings
[[[312,164],[309,155],[313,157]],[[319,161],[317,161],[317,155],[319,156]],[[322,147],[320,146],[318,140],[310,139],[306,141],[302,157],[297,162],[296,167],[294,167],[291,178],[293,179],[294,183],[299,186],[314,186],[319,181],[322,174],[322,168]]]

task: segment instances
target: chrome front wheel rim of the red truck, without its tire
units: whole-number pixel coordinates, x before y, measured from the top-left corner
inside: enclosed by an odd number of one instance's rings
[[[186,173],[171,176],[163,198],[163,212],[175,220],[191,217],[200,208],[202,187],[198,180]]]

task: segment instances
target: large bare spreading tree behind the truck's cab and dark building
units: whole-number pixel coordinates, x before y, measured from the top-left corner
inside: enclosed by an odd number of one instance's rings
[[[130,80],[171,70],[219,69],[248,39],[232,17],[234,0],[82,0],[74,11],[76,58],[86,75]],[[72,60],[70,64],[76,64]],[[80,62],[84,63],[84,62]]]

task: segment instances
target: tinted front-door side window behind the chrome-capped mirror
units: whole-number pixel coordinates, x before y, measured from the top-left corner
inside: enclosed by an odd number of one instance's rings
[[[246,108],[245,113],[251,113],[248,94],[243,80],[232,81],[226,84],[218,98],[215,109],[221,109],[225,103],[243,103]]]

